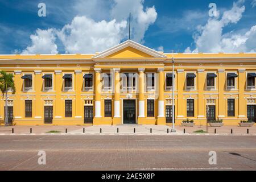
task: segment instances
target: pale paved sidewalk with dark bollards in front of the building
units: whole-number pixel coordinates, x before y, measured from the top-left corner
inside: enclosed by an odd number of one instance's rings
[[[12,133],[14,129],[14,133]],[[32,129],[32,133],[30,133]],[[67,129],[67,133],[66,133]],[[195,133],[197,130],[207,131],[206,126],[182,127],[175,126],[176,133],[171,133],[171,126],[166,125],[97,125],[97,126],[0,126],[0,135],[30,135],[30,134],[156,134],[156,135],[256,135],[256,126],[222,126],[208,127],[208,133]],[[184,133],[185,129],[185,133]],[[216,134],[214,130],[216,129]],[[247,134],[249,129],[249,134]],[[231,134],[232,130],[232,134]],[[49,132],[52,131],[52,132]],[[169,133],[167,133],[167,131]]]

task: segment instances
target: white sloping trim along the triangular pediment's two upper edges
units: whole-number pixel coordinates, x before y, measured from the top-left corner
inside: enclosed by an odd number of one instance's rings
[[[97,58],[104,58],[106,56],[112,55],[115,52],[120,51],[121,49],[124,49],[126,47],[133,47],[135,49],[138,49],[139,51],[142,51],[144,53],[147,53],[148,55],[157,57],[157,58],[167,58],[166,55],[163,55],[162,53],[159,53],[158,51],[155,51],[151,48],[148,48],[146,46],[143,46],[139,43],[136,43],[132,40],[126,40],[125,42],[118,44],[117,46],[114,46],[112,48],[106,49],[105,51],[98,53],[97,55],[92,56],[92,59]]]

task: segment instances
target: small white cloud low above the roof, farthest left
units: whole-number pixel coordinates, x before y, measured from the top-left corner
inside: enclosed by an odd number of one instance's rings
[[[30,35],[32,45],[24,49],[22,54],[58,53],[54,31],[53,28],[49,28],[48,30],[36,30],[36,34]]]

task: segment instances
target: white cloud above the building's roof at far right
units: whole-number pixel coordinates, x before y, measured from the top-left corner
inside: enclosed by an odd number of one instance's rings
[[[230,23],[237,23],[245,11],[243,1],[233,3],[230,10],[224,11],[222,18],[210,18],[205,26],[199,26],[193,35],[196,48],[185,52],[251,52],[256,50],[256,26],[251,27],[246,34],[228,32],[223,34],[223,28]]]

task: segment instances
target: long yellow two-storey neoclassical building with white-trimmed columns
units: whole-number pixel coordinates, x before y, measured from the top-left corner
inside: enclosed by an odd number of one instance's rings
[[[256,120],[256,53],[163,53],[127,40],[106,51],[0,55],[14,74],[8,95],[14,125],[166,125]],[[0,119],[5,118],[1,97]]]

